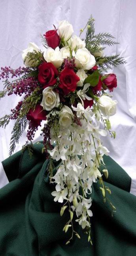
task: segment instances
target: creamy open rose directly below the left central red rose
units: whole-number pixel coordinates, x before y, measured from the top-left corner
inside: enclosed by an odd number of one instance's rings
[[[59,93],[56,93],[55,91],[53,91],[52,86],[46,87],[43,90],[43,99],[40,104],[43,107],[43,109],[50,111],[55,107],[59,107],[59,103],[60,103]]]

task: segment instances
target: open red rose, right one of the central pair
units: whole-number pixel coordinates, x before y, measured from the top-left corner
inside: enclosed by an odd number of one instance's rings
[[[75,91],[77,82],[80,78],[70,68],[64,68],[60,72],[60,84],[59,87],[63,90],[64,94],[67,95],[70,91]]]

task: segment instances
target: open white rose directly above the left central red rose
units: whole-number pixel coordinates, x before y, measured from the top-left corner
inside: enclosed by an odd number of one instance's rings
[[[63,58],[59,49],[59,46],[55,50],[51,47],[47,48],[43,57],[47,62],[51,62],[56,68],[60,68],[63,62]]]

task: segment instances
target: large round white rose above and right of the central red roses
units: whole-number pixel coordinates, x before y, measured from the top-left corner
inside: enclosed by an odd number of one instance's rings
[[[73,51],[75,57],[75,64],[77,68],[91,69],[94,67],[96,61],[94,56],[86,48],[78,49],[76,53]]]

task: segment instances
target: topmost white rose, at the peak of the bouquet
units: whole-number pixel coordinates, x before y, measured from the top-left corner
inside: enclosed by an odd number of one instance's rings
[[[66,20],[62,20],[59,22],[58,32],[60,38],[64,38],[64,41],[67,41],[72,36],[74,32],[72,24],[70,24]]]

